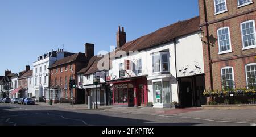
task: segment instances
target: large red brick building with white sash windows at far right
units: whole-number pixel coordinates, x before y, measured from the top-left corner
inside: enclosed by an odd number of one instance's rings
[[[199,0],[206,90],[246,88],[255,78],[255,7],[255,0]]]

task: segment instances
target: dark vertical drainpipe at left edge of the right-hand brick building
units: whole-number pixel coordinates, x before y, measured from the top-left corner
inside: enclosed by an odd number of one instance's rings
[[[208,48],[208,57],[209,57],[209,69],[210,69],[210,90],[213,90],[213,80],[212,80],[212,59],[210,56],[210,40],[209,40],[209,24],[208,24],[208,17],[207,17],[207,6],[206,2],[204,1],[204,18],[205,18],[205,26],[206,26],[206,31],[207,31],[207,48]]]

